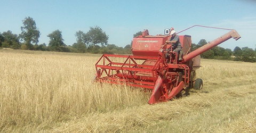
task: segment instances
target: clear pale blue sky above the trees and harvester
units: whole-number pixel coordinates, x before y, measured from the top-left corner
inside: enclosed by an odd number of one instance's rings
[[[179,32],[196,24],[236,29],[241,39],[229,39],[219,46],[233,50],[236,46],[255,48],[256,0],[195,1],[60,1],[1,0],[0,32],[20,34],[22,20],[30,16],[41,32],[38,44],[49,44],[52,31],[62,31],[64,43],[76,42],[76,31],[99,26],[109,36],[108,43],[126,46],[133,34],[144,29],[150,35],[164,34],[165,28]],[[195,27],[180,35],[191,35],[192,43],[212,41],[227,30]]]

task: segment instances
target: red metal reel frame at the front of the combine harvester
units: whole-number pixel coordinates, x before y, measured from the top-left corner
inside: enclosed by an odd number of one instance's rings
[[[110,57],[122,58],[125,61],[123,63],[115,62]],[[144,64],[137,63],[138,60],[144,61]],[[100,82],[152,89],[158,77],[158,69],[164,68],[164,65],[167,67],[166,64],[161,63],[161,57],[156,56],[103,54],[95,64],[95,68]]]

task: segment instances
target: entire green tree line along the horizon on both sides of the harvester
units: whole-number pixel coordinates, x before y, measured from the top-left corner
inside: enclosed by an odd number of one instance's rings
[[[49,44],[38,44],[40,31],[36,27],[36,22],[29,16],[22,20],[23,26],[19,35],[13,34],[8,30],[1,34],[0,47],[25,49],[34,51],[55,51],[55,52],[74,52],[74,53],[93,53],[93,54],[131,54],[131,44],[124,48],[115,44],[108,44],[108,36],[100,27],[90,27],[90,30],[83,32],[81,30],[75,33],[76,43],[66,45],[59,29],[52,31],[49,37]],[[142,31],[133,35],[141,35]],[[191,45],[191,51],[207,44],[205,39],[201,39],[198,44]],[[255,49],[256,51],[256,49]],[[256,62],[256,52],[249,47],[235,47],[234,51],[228,48],[216,46],[207,52],[201,54],[204,59],[233,60],[244,62]]]

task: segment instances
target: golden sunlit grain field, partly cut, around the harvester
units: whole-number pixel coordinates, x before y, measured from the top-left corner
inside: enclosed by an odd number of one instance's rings
[[[0,50],[0,132],[254,132],[256,63],[201,60],[202,90],[148,105],[93,82],[101,55]]]

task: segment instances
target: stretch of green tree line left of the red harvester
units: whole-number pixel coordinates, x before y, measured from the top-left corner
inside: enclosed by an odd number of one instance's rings
[[[74,53],[94,53],[94,54],[131,54],[131,45],[124,48],[114,44],[108,44],[108,36],[98,26],[90,27],[88,32],[77,31],[75,33],[77,42],[73,45],[66,45],[62,38],[62,32],[57,29],[52,31],[49,37],[49,44],[38,44],[40,31],[36,27],[36,22],[29,16],[22,20],[23,26],[19,35],[8,30],[0,32],[0,47],[33,50],[33,51],[55,51]]]

